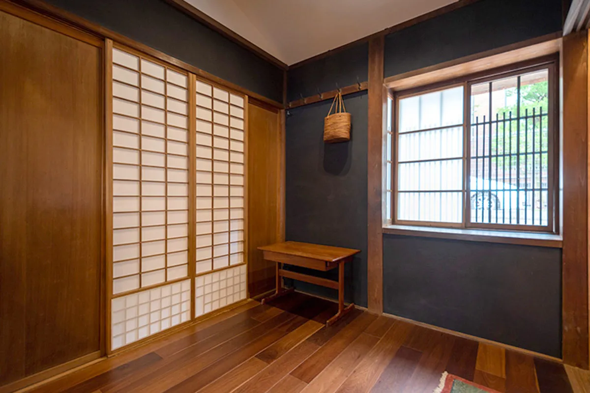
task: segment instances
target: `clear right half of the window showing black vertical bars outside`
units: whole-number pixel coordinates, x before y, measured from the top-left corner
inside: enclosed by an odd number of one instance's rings
[[[471,86],[472,223],[548,226],[549,71]]]

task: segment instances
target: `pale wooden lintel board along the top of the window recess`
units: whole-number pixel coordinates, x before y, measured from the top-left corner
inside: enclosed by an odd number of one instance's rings
[[[561,41],[560,32],[543,35],[505,47],[394,75],[385,78],[385,85],[391,90],[402,91],[441,81],[452,81],[454,78],[465,75],[477,74],[492,68],[558,53],[562,45]]]

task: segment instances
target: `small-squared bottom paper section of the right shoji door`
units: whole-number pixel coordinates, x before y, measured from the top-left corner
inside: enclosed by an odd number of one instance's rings
[[[204,315],[245,298],[245,265],[198,276],[195,279],[195,316]]]

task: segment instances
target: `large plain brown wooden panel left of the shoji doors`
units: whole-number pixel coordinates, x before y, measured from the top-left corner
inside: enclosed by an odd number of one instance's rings
[[[100,51],[0,12],[0,385],[100,349]]]

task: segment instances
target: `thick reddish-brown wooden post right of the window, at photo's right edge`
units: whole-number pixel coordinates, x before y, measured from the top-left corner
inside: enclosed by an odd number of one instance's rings
[[[563,38],[563,362],[588,369],[588,37]]]

